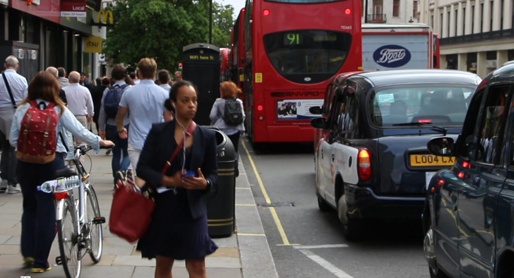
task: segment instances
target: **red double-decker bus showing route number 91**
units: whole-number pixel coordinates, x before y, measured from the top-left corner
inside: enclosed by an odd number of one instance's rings
[[[312,142],[309,108],[362,65],[357,0],[247,0],[244,93],[252,143]]]

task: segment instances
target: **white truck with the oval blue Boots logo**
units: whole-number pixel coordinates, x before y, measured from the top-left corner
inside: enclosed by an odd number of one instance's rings
[[[432,28],[426,24],[362,24],[362,69],[433,68]]]

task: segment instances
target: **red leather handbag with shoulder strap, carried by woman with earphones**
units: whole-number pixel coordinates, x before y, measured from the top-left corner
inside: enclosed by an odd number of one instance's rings
[[[186,137],[191,136],[195,128],[196,123],[191,122],[186,131]],[[184,140],[175,148],[168,162],[164,164],[162,174],[166,174],[183,144]],[[111,216],[109,216],[109,231],[132,243],[139,240],[148,230],[150,222],[152,222],[155,202],[150,197],[149,192],[141,192],[139,187],[130,179],[118,180],[116,185]]]

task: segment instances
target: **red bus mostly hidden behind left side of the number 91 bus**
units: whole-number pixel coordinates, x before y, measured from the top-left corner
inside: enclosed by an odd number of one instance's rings
[[[245,37],[243,33],[244,27],[244,18],[245,18],[245,9],[241,9],[237,19],[234,22],[234,28],[232,29],[232,51],[230,52],[231,61],[231,80],[237,84],[237,86],[241,89],[244,89],[243,82],[245,81],[245,77],[243,75],[243,67],[245,63]],[[244,91],[239,97],[244,100]]]

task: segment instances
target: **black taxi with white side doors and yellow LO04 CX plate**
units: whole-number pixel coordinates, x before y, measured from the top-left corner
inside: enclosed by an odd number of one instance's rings
[[[347,240],[371,219],[419,219],[435,171],[453,158],[428,153],[460,133],[481,78],[456,70],[391,70],[332,78],[314,118],[316,195],[334,208]]]

